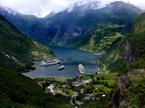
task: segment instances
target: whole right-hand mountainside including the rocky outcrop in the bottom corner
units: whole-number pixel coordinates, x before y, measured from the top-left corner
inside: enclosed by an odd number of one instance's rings
[[[120,107],[145,106],[145,13],[137,17],[131,32],[122,41],[120,46],[108,52],[108,64],[112,71],[119,72],[122,76],[118,79]],[[111,57],[112,56],[112,57]],[[104,58],[104,59],[106,59]],[[113,61],[113,62],[112,62]],[[121,87],[122,86],[122,87]]]

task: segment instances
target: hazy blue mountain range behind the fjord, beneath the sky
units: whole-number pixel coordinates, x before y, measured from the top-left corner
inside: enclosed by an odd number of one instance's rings
[[[43,44],[93,50],[88,49],[92,38],[93,41],[100,41],[116,33],[127,34],[136,16],[142,12],[124,2],[113,2],[104,8],[97,7],[97,4],[77,4],[71,9],[41,19],[4,9],[1,9],[1,13],[19,30]],[[102,37],[96,34],[100,29],[105,31]]]

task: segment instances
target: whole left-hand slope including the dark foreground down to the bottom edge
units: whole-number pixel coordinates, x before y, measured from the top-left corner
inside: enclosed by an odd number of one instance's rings
[[[40,59],[52,57],[48,48],[27,39],[0,16],[0,108],[68,108],[62,98],[47,95],[31,79],[19,73]]]

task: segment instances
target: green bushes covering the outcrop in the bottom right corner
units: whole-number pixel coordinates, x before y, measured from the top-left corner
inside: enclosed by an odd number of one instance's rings
[[[130,85],[121,92],[128,96],[128,100],[121,99],[120,108],[144,108],[145,107],[145,70],[134,70],[129,74]]]

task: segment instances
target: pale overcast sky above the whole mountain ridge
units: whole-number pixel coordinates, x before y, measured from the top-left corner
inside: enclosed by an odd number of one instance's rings
[[[50,12],[59,12],[77,2],[85,3],[97,0],[0,0],[0,5],[11,8],[23,14],[32,14],[37,17],[44,17]],[[113,1],[119,0],[98,0],[104,6]],[[145,10],[145,0],[120,0],[129,2]]]

